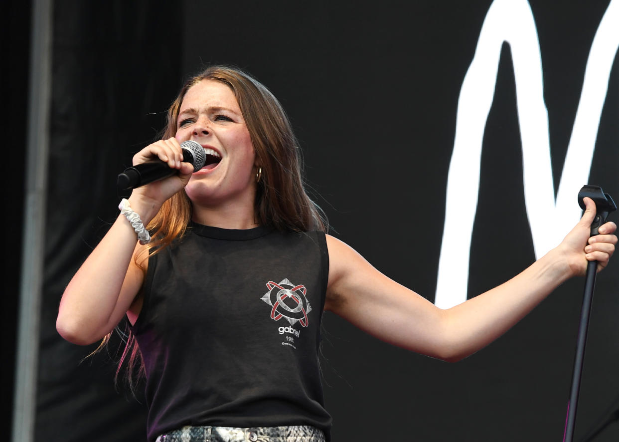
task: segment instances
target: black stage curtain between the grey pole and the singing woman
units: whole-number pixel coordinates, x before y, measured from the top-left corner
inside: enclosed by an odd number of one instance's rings
[[[145,440],[145,405],[114,386],[119,338],[65,342],[55,330],[71,276],[118,214],[116,175],[157,136],[181,84],[181,9],[165,2],[54,2],[53,92],[36,438]]]

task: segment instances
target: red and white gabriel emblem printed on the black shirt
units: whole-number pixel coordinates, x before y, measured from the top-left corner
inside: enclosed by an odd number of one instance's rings
[[[307,327],[308,313],[311,312],[311,306],[307,296],[305,296],[307,293],[305,286],[302,284],[295,285],[288,278],[284,278],[279,283],[267,282],[267,289],[269,291],[261,299],[271,306],[271,319],[277,321],[283,317],[290,322],[290,326],[277,329],[280,335],[285,334],[282,345],[297,348],[294,345],[295,337],[300,336],[301,330],[295,329],[293,325],[298,323]]]

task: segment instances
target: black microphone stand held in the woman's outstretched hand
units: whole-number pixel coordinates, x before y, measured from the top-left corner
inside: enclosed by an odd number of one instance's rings
[[[578,204],[581,209],[585,209],[582,198],[589,197],[595,203],[596,214],[591,223],[591,236],[597,235],[597,229],[606,222],[608,214],[617,210],[608,193],[602,192],[599,186],[585,185],[578,192]],[[574,423],[576,422],[576,405],[578,405],[578,392],[582,377],[582,364],[584,362],[584,347],[587,343],[587,329],[589,328],[589,316],[591,314],[591,304],[593,302],[593,290],[595,287],[595,272],[597,261],[587,263],[587,275],[584,281],[584,296],[582,298],[582,311],[580,325],[578,327],[578,338],[576,338],[576,356],[574,356],[574,373],[572,376],[572,388],[569,394],[568,415],[565,420],[565,432],[563,442],[572,442],[574,438]]]

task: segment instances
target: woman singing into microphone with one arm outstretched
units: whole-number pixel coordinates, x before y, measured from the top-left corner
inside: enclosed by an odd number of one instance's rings
[[[126,315],[144,369],[149,441],[329,440],[318,366],[323,311],[385,342],[446,361],[506,332],[563,281],[599,270],[617,243],[595,205],[524,272],[451,309],[390,280],[326,234],[303,188],[300,152],[279,102],[235,68],[191,78],[163,139],[134,164],[178,173],[133,190],[72,278],[56,327],[101,340]],[[196,141],[206,165],[183,162]],[[131,347],[132,346],[132,347]]]

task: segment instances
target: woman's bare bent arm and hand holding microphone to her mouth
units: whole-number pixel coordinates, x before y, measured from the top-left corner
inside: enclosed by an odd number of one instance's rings
[[[186,185],[193,172],[191,164],[181,162],[180,144],[174,138],[142,149],[134,156],[133,164],[156,158],[179,169],[180,174],[132,192],[129,204],[145,225],[157,214],[163,201]],[[56,319],[56,329],[63,338],[88,345],[118,325],[144,282],[144,272],[134,259],[144,247],[137,242],[131,223],[119,215],[64,290]]]

